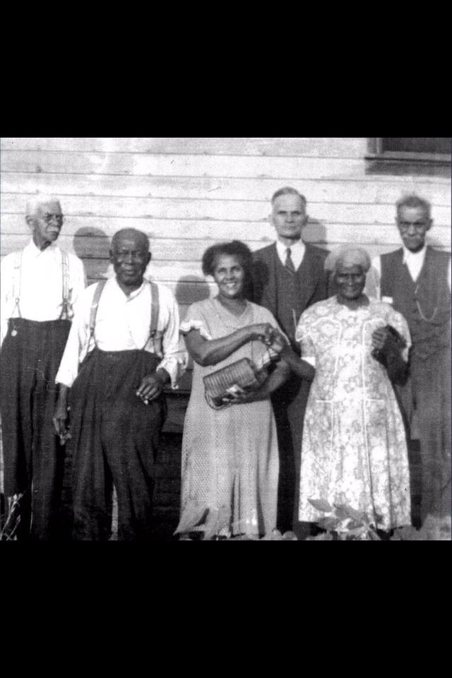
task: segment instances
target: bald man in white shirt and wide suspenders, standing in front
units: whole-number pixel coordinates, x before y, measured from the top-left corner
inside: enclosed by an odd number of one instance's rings
[[[85,290],[57,374],[59,434],[70,408],[76,541],[109,539],[112,486],[118,540],[151,536],[153,465],[166,415],[162,391],[169,381],[177,388],[186,359],[172,292],[143,278],[150,258],[143,232],[114,234],[116,275]]]

